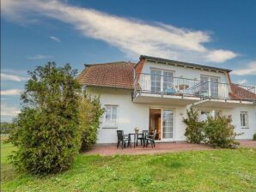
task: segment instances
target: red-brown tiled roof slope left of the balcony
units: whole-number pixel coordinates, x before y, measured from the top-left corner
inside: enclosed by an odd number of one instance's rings
[[[133,89],[134,63],[115,62],[87,65],[78,81],[87,86]]]

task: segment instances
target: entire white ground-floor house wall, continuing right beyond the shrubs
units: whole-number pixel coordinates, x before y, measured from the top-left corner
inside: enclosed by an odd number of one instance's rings
[[[182,118],[186,117],[186,106],[175,105],[149,105],[137,104],[131,101],[131,91],[113,88],[96,88],[87,87],[87,92],[92,96],[101,96],[101,105],[118,105],[118,128],[125,131],[125,134],[134,133],[134,128],[141,130],[149,129],[149,108],[162,108],[174,110],[174,141],[186,141],[185,130],[186,125],[182,122]],[[218,108],[200,108],[204,110],[220,110],[223,115],[232,115],[235,131],[237,133],[244,132],[244,135],[237,139],[252,139],[253,133],[256,132],[256,107],[244,106],[235,109],[218,109]],[[240,112],[248,111],[249,129],[241,129]],[[116,143],[117,129],[104,128],[104,119],[101,120],[101,128],[97,143]]]

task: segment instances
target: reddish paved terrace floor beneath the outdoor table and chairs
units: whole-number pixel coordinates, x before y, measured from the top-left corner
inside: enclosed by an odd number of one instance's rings
[[[240,141],[241,147],[256,147],[256,141]],[[155,147],[141,147],[139,144],[137,147],[126,147],[117,149],[116,145],[94,146],[85,154],[100,154],[102,156],[109,156],[115,154],[155,154],[155,153],[172,153],[181,151],[198,151],[198,150],[214,150],[213,147],[209,147],[203,144],[189,144],[186,142],[179,143],[155,143]]]

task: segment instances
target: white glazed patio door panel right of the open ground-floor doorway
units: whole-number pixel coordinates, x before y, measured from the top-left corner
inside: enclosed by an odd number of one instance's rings
[[[162,141],[174,140],[174,111],[162,110]]]

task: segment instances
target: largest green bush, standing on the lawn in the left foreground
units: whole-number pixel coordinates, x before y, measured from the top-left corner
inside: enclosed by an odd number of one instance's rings
[[[81,142],[81,85],[69,64],[47,63],[30,72],[23,107],[9,136],[17,151],[10,159],[21,170],[47,174],[67,170]]]

